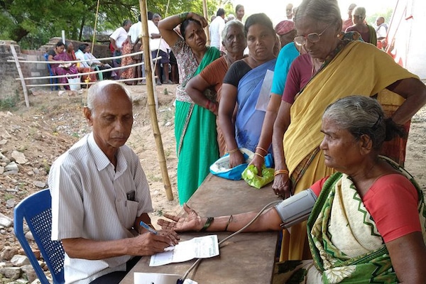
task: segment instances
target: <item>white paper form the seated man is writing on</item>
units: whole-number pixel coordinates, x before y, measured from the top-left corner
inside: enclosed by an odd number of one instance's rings
[[[181,241],[173,251],[165,251],[151,256],[149,266],[163,266],[173,262],[190,261],[192,258],[219,256],[217,235],[198,236],[189,241]]]

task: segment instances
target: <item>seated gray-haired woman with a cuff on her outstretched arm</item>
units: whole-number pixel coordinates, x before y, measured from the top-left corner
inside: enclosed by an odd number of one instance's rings
[[[378,155],[384,141],[404,134],[402,126],[384,116],[376,99],[350,96],[327,107],[321,132],[325,163],[337,173],[266,210],[246,229],[278,231],[293,225],[286,222],[293,215],[299,222],[308,218],[313,260],[278,263],[273,283],[424,283],[422,191],[403,168]],[[308,213],[283,210],[300,200]],[[200,231],[207,218],[184,208],[187,217],[165,215],[174,222],[158,224]],[[207,231],[237,231],[256,214],[214,217]]]

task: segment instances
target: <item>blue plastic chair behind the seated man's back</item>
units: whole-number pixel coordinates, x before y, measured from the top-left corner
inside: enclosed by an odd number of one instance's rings
[[[50,197],[49,190],[40,190],[26,197],[16,205],[14,215],[13,226],[16,238],[21,243],[23,251],[25,251],[30,260],[40,282],[49,284],[23,232],[24,218],[45,263],[48,265],[50,273],[52,273],[53,283],[64,283],[65,251],[61,241],[52,241],[50,239],[52,232],[52,197]]]

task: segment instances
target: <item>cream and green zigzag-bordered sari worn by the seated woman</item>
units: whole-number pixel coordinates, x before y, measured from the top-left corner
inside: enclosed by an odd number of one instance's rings
[[[420,186],[393,160],[381,158],[405,175],[417,190],[417,211],[425,239],[426,208]],[[391,180],[378,178],[375,187],[386,188]],[[277,263],[273,283],[399,282],[383,237],[348,175],[335,173],[324,182],[307,221],[307,231],[313,261]]]

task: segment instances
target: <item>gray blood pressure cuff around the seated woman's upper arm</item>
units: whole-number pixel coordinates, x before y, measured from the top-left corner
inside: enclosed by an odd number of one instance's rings
[[[283,220],[280,226],[288,228],[307,220],[316,200],[317,195],[309,188],[276,205],[275,209]]]

